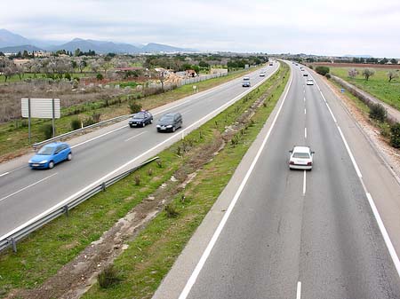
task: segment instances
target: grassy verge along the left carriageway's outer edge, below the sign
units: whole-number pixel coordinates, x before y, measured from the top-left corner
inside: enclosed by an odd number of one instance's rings
[[[242,72],[235,72],[224,77],[206,80],[201,83],[196,83],[199,91],[208,90],[212,87],[226,83],[233,80],[241,75],[247,74],[249,70]],[[146,98],[140,98],[138,101],[145,109],[152,109],[156,106],[162,106],[167,103],[171,103],[177,99],[185,98],[188,95],[193,94],[193,85],[183,85],[175,90],[167,91],[159,95],[149,96]],[[93,113],[100,113],[101,120],[107,120],[118,115],[129,114],[129,107],[126,101],[126,96],[121,97],[121,103],[104,106],[104,100],[99,100],[92,103],[84,103],[76,106],[70,106],[67,108],[61,108],[61,118],[55,120],[56,135],[66,133],[71,130],[71,121],[75,118],[84,120],[89,118]],[[84,112],[76,115],[70,114],[75,109],[83,109]],[[44,140],[44,135],[41,131],[41,127],[46,123],[52,123],[51,120],[34,119],[32,121],[32,143],[40,142]],[[0,124],[0,161],[8,159],[11,155],[20,155],[27,153],[30,149],[28,143],[28,121],[18,120],[12,122],[6,122]]]

